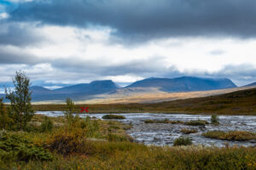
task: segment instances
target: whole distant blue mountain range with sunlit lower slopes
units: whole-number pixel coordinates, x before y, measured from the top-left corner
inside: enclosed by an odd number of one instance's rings
[[[253,86],[256,83],[247,85]],[[147,93],[178,93],[236,88],[236,84],[228,78],[201,78],[177,77],[157,78],[150,77],[133,82],[125,88],[119,87],[111,80],[80,83],[72,86],[50,90],[39,86],[32,86],[32,101],[64,101],[71,98],[74,101],[100,99],[102,95],[113,96],[122,94],[147,94]]]

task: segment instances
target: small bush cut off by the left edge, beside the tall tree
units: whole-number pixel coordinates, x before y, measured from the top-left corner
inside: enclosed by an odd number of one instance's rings
[[[13,120],[9,117],[8,111],[5,108],[3,99],[0,99],[0,129],[9,129]]]

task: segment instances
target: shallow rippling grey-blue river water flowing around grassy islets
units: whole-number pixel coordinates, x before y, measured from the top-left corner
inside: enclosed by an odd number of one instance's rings
[[[42,114],[46,116],[63,116],[61,111],[38,111],[36,114]],[[90,116],[102,119],[102,116],[107,114],[79,114],[81,117]],[[163,120],[169,119],[173,121],[188,122],[191,120],[206,120],[211,122],[211,116],[205,115],[187,115],[187,114],[154,114],[154,113],[125,113],[118,114],[125,116],[124,120],[117,120],[119,122],[131,123],[133,127],[127,131],[134,139],[139,143],[154,144],[154,145],[172,145],[174,139],[180,136],[189,136],[193,144],[204,144],[207,146],[224,146],[225,143],[230,145],[256,145],[256,141],[250,142],[236,142],[226,141],[219,139],[207,139],[201,136],[201,133],[209,130],[242,130],[256,133],[256,116],[218,116],[220,124],[214,126],[208,124],[205,127],[187,126],[183,124],[164,124],[164,123],[144,123],[143,120]],[[195,128],[198,133],[183,134],[180,132],[182,128]]]

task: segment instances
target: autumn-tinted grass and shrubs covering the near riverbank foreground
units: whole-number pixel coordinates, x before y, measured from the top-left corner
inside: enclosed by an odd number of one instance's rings
[[[53,127],[42,128],[45,121]],[[253,147],[146,146],[133,143],[128,128],[89,118],[70,127],[37,115],[27,132],[1,131],[0,169],[256,169]]]

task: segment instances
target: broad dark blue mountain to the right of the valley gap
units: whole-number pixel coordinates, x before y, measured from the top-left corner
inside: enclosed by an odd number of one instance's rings
[[[160,90],[164,92],[191,92],[222,88],[236,88],[236,84],[227,78],[147,78],[142,81],[134,82],[126,88],[160,88]]]

